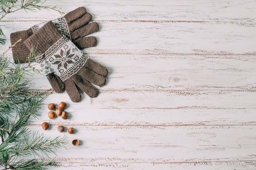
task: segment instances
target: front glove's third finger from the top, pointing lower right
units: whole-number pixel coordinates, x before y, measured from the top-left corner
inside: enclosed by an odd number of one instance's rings
[[[76,85],[89,97],[97,97],[97,95],[99,94],[98,89],[90,84],[88,81],[83,79],[81,76],[74,75],[72,76],[72,79],[74,80]]]

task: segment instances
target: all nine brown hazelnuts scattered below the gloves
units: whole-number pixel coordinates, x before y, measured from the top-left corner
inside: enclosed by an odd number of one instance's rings
[[[49,108],[49,110],[51,110],[48,113],[48,117],[50,119],[54,119],[55,117],[58,117],[58,116],[61,116],[62,119],[67,119],[69,117],[68,113],[66,111],[64,111],[64,109],[67,108],[67,104],[65,102],[61,102],[58,105],[58,108],[56,108],[56,105],[54,103],[50,103],[50,104],[48,104],[48,108]],[[55,111],[55,113],[54,113],[54,111]],[[44,130],[47,130],[49,128],[49,124],[47,122],[43,122],[42,128]],[[65,130],[64,126],[62,126],[62,125],[58,126],[59,132],[63,132],[64,130]],[[75,129],[70,127],[70,128],[68,128],[67,132],[69,134],[73,134],[75,132]],[[72,144],[77,146],[79,144],[78,139],[74,139],[72,141]]]

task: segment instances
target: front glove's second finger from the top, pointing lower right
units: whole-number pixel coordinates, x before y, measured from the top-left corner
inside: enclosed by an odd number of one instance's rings
[[[94,71],[90,70],[89,68],[82,67],[78,74],[86,79],[88,82],[95,84],[97,86],[103,86],[106,83],[106,77],[103,75],[99,75]]]

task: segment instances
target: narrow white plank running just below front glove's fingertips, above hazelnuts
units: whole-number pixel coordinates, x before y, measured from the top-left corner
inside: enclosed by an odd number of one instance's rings
[[[72,105],[80,107],[83,103],[86,109],[255,109],[255,93],[254,90],[101,90],[98,97],[83,94],[81,102]],[[51,95],[45,102],[50,103],[51,98],[71,102],[66,93]]]

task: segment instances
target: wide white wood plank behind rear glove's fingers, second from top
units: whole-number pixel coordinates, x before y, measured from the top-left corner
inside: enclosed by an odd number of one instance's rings
[[[0,24],[7,38],[39,22]],[[89,54],[117,55],[254,55],[255,24],[247,22],[99,21],[96,47]],[[114,31],[113,31],[114,30]],[[7,40],[7,45],[10,42]],[[1,46],[1,49],[7,49]]]

